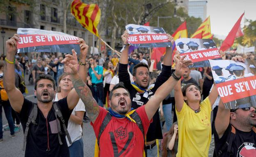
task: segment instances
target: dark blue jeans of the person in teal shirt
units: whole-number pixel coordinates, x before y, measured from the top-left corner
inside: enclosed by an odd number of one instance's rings
[[[103,107],[104,102],[104,88],[103,83],[93,84],[91,86],[92,96],[96,100],[99,106]]]

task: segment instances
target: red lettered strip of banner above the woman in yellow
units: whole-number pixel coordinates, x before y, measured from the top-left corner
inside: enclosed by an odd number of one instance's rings
[[[192,60],[192,62],[201,62],[208,59],[212,60],[216,58],[221,58],[217,48],[205,49],[201,51],[194,51],[194,52],[188,52],[188,53],[181,53],[181,56],[183,55],[187,55],[187,57],[185,57],[185,60]]]

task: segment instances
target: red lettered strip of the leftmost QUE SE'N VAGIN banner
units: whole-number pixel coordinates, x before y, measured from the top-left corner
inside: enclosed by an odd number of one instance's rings
[[[72,35],[20,35],[17,48],[32,46],[60,45],[60,44],[78,44],[78,37]]]

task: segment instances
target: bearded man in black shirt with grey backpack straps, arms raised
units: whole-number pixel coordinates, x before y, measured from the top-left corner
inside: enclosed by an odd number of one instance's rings
[[[21,120],[24,133],[23,149],[25,149],[26,142],[25,157],[69,157],[65,126],[68,124],[73,108],[78,103],[78,94],[74,88],[67,97],[58,102],[53,102],[56,93],[55,81],[52,76],[42,74],[35,81],[34,94],[37,95],[37,104],[25,99],[21,91],[14,85],[14,56],[17,51],[18,40],[19,35],[15,34],[6,42],[4,84],[11,107]],[[85,63],[88,46],[82,39],[79,39],[78,43],[80,43],[81,52],[79,56],[79,75],[85,80],[87,72],[83,63]],[[72,53],[75,54],[75,51],[72,50]],[[75,66],[78,69],[77,60],[70,64],[70,66]],[[67,67],[67,70],[69,70],[69,67]],[[73,77],[72,74],[70,75]],[[55,109],[56,106],[58,111]],[[62,116],[59,114],[62,114]]]

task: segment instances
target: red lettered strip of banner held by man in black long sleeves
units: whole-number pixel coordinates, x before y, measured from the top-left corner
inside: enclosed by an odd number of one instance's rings
[[[130,34],[129,44],[149,44],[158,42],[169,42],[166,34]]]

